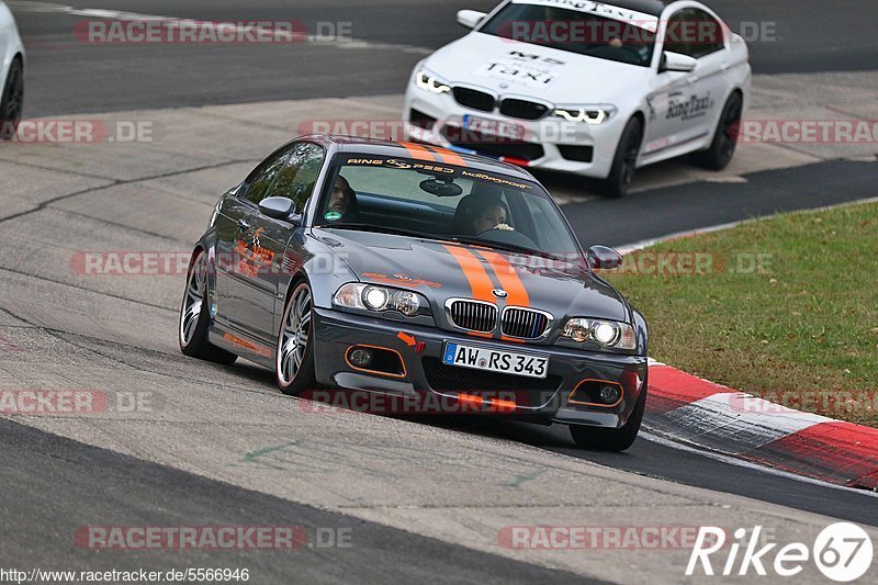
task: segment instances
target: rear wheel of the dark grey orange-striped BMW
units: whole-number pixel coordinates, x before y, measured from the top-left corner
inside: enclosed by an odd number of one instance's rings
[[[210,303],[204,302],[207,293],[207,255],[195,251],[185,277],[183,303],[180,306],[180,322],[177,337],[180,351],[191,358],[230,365],[238,357],[207,341],[211,326]]]

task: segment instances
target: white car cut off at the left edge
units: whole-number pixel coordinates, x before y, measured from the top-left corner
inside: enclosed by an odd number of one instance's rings
[[[24,108],[24,45],[15,18],[0,0],[0,139],[9,138]]]

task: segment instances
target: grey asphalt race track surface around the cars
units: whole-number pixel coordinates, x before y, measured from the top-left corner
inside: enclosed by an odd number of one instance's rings
[[[498,535],[531,525],[763,524],[781,541],[808,542],[833,519],[878,530],[875,494],[742,466],[649,432],[609,454],[575,449],[558,427],[315,413],[244,360],[221,368],[180,355],[182,275],[71,270],[82,250],[188,251],[218,193],[292,137],[292,120],[339,108],[356,112],[342,117],[390,119],[412,66],[462,34],[454,12],[492,2],[386,0],[353,12],[338,0],[9,4],[29,50],[26,115],[154,120],[164,135],[131,148],[0,145],[0,389],[145,393],[151,405],[0,419],[0,567],[246,566],[254,583],[664,583],[684,581],[687,550],[520,550]],[[751,44],[759,112],[878,115],[878,37],[863,25],[878,15],[874,0],[711,4],[733,29],[776,21],[777,42]],[[351,21],[357,45],[89,46],[72,37],[86,16],[69,7]],[[685,161],[646,169],[623,200],[540,178],[585,246],[621,246],[878,196],[877,153],[875,144],[753,145],[716,177]],[[351,545],[94,551],[72,538],[85,526],[269,525],[349,529]]]

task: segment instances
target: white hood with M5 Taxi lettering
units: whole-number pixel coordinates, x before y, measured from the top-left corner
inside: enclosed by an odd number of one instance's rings
[[[479,86],[500,95],[531,95],[554,104],[614,104],[629,98],[632,87],[644,87],[650,77],[649,67],[475,32],[437,50],[424,67],[451,85]],[[509,75],[522,69],[536,79]]]

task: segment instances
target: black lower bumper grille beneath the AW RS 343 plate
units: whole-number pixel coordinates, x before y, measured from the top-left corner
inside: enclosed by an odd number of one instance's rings
[[[561,386],[562,380],[560,375],[539,379],[447,365],[439,358],[424,358],[421,365],[427,384],[436,392],[514,392],[521,406],[542,406]]]

